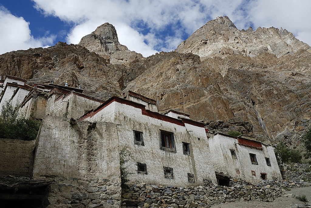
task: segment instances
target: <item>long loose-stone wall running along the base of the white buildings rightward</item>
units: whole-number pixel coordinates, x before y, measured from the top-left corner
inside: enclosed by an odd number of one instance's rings
[[[230,187],[211,186],[210,182],[198,187],[163,187],[145,183],[128,185],[122,190],[122,208],[206,208],[221,202],[271,202],[290,188],[305,187],[308,184],[307,179],[311,178],[308,169],[310,164],[292,164],[285,167],[283,182],[262,180],[257,184],[251,184],[234,178],[230,180]]]

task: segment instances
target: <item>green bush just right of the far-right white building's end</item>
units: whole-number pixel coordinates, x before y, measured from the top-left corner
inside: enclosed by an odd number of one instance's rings
[[[302,158],[299,150],[291,150],[283,142],[280,142],[275,146],[274,153],[279,165],[287,162],[298,163]]]

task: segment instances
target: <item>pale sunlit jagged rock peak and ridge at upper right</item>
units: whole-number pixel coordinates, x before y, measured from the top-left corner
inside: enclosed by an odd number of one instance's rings
[[[311,49],[285,29],[258,27],[253,31],[249,27],[247,30],[238,30],[227,16],[221,16],[208,21],[179,44],[175,51],[197,54],[204,60],[207,57],[224,58],[237,54],[254,57],[265,52],[279,58],[301,50]]]

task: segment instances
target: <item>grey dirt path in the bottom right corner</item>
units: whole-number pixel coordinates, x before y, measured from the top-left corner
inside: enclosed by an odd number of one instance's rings
[[[311,184],[309,184],[311,185]],[[291,196],[292,194],[292,196]],[[287,196],[286,196],[287,195]],[[263,207],[263,208],[290,208],[298,205],[304,205],[304,202],[296,199],[295,196],[305,195],[309,200],[307,202],[308,205],[311,204],[311,186],[302,187],[302,188],[293,188],[290,191],[286,191],[283,193],[283,196],[276,198],[273,202],[265,202],[265,201],[246,201],[246,202],[230,202],[230,203],[221,203],[218,205],[211,206],[212,208],[253,208],[253,207]]]

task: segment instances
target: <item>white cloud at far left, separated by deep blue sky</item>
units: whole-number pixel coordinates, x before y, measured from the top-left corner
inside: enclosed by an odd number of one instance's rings
[[[54,40],[52,35],[34,39],[30,33],[29,22],[23,17],[12,15],[5,7],[0,7],[0,28],[0,54],[30,47],[43,47]]]

